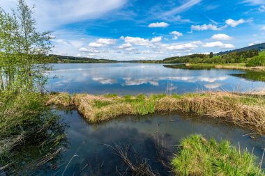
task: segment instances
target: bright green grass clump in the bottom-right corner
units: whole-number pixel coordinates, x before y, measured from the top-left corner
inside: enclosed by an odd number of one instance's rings
[[[265,175],[252,153],[241,152],[229,141],[207,141],[200,135],[181,141],[172,166],[176,175]]]

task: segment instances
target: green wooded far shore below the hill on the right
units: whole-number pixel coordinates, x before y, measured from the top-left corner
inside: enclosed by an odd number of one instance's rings
[[[176,56],[165,58],[163,63],[247,63],[249,58],[258,56],[258,50],[232,52],[222,56],[211,54],[192,54],[188,56]]]

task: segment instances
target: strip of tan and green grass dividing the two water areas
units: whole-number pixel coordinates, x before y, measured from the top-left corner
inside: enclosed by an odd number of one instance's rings
[[[235,93],[192,93],[185,95],[87,95],[58,93],[47,104],[77,107],[90,122],[100,122],[119,115],[146,115],[156,112],[182,111],[209,115],[248,127],[265,134],[264,95]]]

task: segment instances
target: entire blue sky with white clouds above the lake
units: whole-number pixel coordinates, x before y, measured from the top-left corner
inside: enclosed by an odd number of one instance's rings
[[[159,60],[265,42],[265,0],[25,1],[38,30],[54,31],[50,54]]]

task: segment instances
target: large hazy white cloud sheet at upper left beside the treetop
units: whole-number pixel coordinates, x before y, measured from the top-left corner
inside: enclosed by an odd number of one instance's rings
[[[27,0],[29,6],[36,4],[35,17],[44,29],[80,22],[85,19],[97,19],[107,13],[121,8],[126,0]],[[3,9],[16,8],[17,0],[2,0]]]

